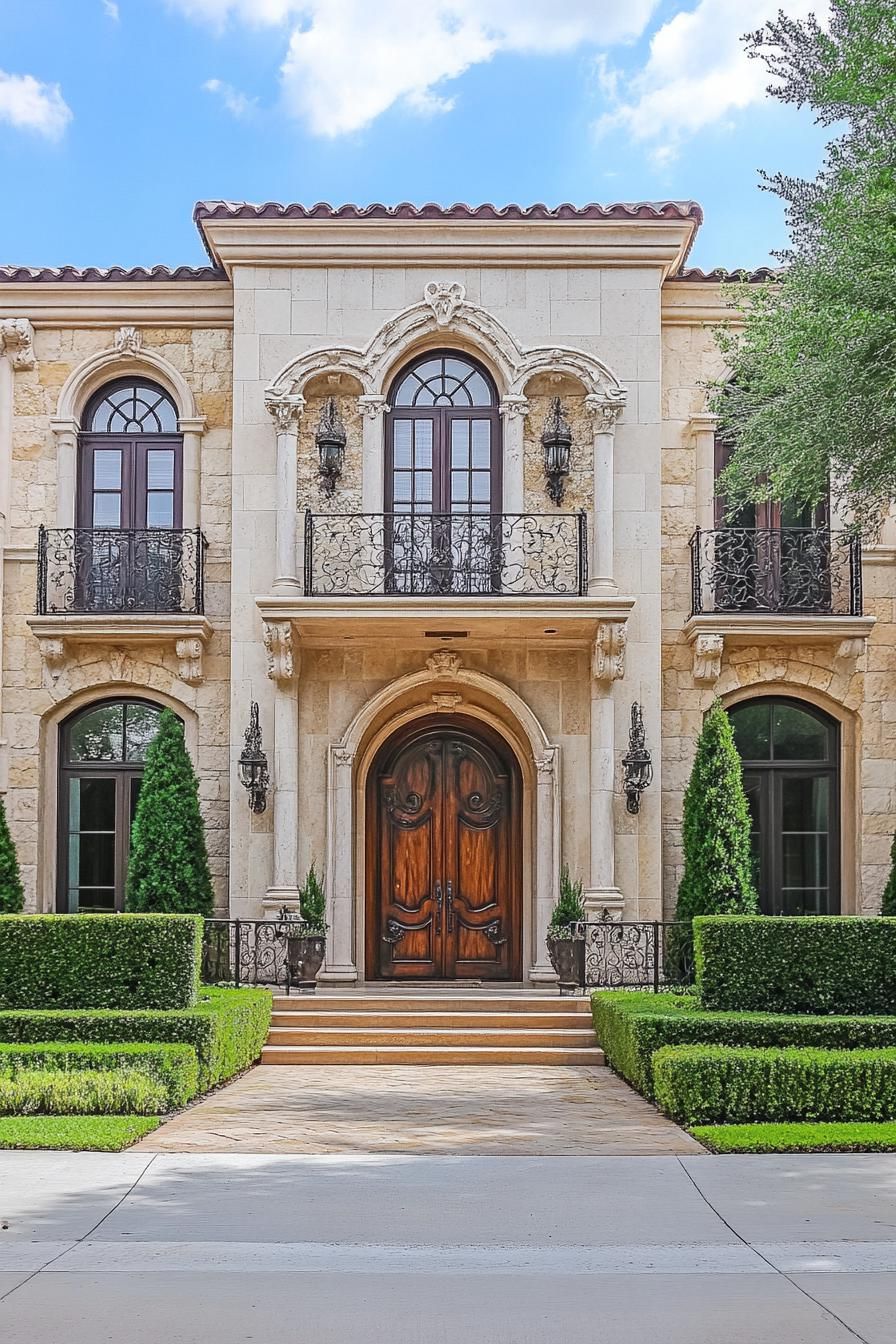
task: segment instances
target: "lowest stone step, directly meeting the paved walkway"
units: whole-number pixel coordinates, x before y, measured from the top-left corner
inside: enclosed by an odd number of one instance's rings
[[[262,1064],[563,1064],[600,1066],[598,1046],[265,1046]]]

